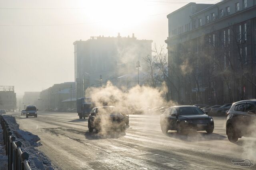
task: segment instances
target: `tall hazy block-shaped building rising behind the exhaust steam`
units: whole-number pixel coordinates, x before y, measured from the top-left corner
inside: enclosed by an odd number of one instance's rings
[[[151,57],[151,40],[134,37],[91,37],[87,41],[75,41],[75,81],[77,98],[84,97],[88,86],[100,86],[108,80],[136,72],[136,62]],[[128,81],[128,80],[127,80]],[[129,80],[136,82],[136,79]],[[129,82],[132,84],[132,82]],[[136,84],[136,83],[135,83]]]

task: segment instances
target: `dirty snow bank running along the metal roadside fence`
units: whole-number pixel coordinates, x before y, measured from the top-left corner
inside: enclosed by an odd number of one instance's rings
[[[38,151],[35,147],[40,146],[38,143],[40,138],[37,135],[33,135],[30,132],[19,129],[19,125],[16,123],[15,117],[4,115],[4,119],[8,122],[13,136],[16,137],[16,141],[22,142],[22,151],[28,152],[30,167],[33,170],[45,170],[52,169],[52,163],[42,152]],[[0,169],[1,170],[1,169]]]

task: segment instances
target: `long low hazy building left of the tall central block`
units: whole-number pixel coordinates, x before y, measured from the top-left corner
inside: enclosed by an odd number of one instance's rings
[[[40,105],[38,105],[38,109],[65,108],[68,106],[68,104],[66,104],[67,101],[72,103],[76,101],[75,88],[75,82],[64,82],[54,84],[52,87],[43,90],[40,92]]]

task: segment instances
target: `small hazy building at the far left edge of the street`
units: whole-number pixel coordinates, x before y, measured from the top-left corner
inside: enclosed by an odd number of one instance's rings
[[[0,86],[0,109],[14,111],[16,106],[14,86]]]

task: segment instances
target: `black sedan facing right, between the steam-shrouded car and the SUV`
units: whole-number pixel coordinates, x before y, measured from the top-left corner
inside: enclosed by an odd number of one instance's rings
[[[206,131],[212,133],[214,121],[196,106],[169,107],[160,117],[160,125],[163,133],[168,130],[184,133],[189,130]]]

